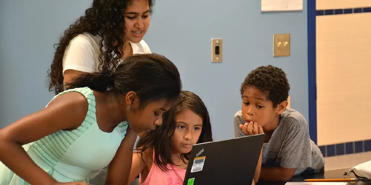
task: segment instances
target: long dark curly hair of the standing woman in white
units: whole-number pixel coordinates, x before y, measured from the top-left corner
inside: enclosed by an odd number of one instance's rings
[[[124,48],[125,40],[125,20],[124,11],[133,0],[93,0],[92,6],[85,10],[85,15],[72,23],[60,37],[59,43],[55,44],[56,49],[52,65],[48,70],[49,91],[59,94],[64,90],[63,87],[63,55],[66,47],[72,38],[82,33],[90,33],[102,37],[100,41],[101,52],[99,55],[99,67],[102,71],[109,70],[112,66],[117,66],[122,58],[121,49]],[[147,0],[150,13],[155,4],[155,0]],[[103,51],[103,43],[105,50]],[[116,54],[114,55],[113,52]]]

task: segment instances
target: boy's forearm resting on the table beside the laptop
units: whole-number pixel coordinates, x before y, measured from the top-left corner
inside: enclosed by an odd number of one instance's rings
[[[265,181],[290,181],[294,176],[296,168],[277,167],[262,167],[260,171],[260,179]]]

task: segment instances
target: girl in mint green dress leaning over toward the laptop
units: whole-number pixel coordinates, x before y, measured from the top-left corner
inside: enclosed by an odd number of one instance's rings
[[[181,80],[167,58],[138,54],[66,87],[0,130],[0,185],[86,185],[108,164],[106,184],[127,184],[137,133],[161,125]]]

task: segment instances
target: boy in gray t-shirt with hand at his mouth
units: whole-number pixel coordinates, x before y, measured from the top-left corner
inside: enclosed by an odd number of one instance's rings
[[[305,118],[287,108],[289,90],[285,72],[272,65],[251,71],[241,84],[242,110],[234,115],[234,136],[263,129],[262,180],[289,181],[293,175],[324,169],[323,155],[309,138]]]

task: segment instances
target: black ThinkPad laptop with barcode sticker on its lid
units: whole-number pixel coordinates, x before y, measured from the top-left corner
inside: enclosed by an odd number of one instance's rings
[[[265,134],[193,145],[183,185],[252,183]]]

